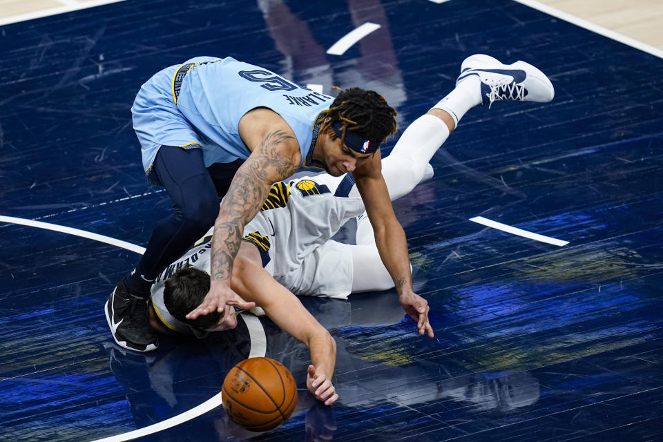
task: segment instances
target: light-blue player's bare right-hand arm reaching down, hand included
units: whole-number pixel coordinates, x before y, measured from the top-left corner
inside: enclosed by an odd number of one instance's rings
[[[416,321],[419,334],[427,334],[432,338],[433,329],[428,322],[430,308],[424,298],[414,293],[405,232],[394,214],[387,184],[382,176],[380,158],[378,151],[371,160],[358,166],[352,175],[373,226],[380,258],[394,280],[398,300],[405,313]]]

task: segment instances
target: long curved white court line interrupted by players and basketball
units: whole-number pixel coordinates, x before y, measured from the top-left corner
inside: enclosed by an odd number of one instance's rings
[[[135,251],[136,253],[144,253],[145,248],[137,246],[136,244],[131,244],[131,242],[126,242],[122,240],[116,240],[108,236],[99,235],[97,233],[91,233],[84,230],[73,229],[72,227],[59,226],[57,224],[50,224],[48,222],[41,222],[35,220],[26,220],[25,218],[15,218],[13,216],[4,216],[0,215],[0,222],[8,222],[11,224],[21,224],[23,226],[37,227],[38,229],[47,229],[52,231],[58,231],[62,233],[68,233],[70,235],[81,236],[83,238],[88,238],[90,240],[95,240],[99,242],[105,242],[106,244],[111,244],[117,247],[122,247],[123,249]],[[249,358],[256,358],[260,356],[265,356],[267,352],[267,336],[265,336],[265,329],[262,328],[260,319],[252,315],[242,315],[244,318],[244,323],[247,324],[247,329],[249,329],[249,341],[251,342],[251,351],[249,352]],[[117,436],[106,437],[104,439],[97,439],[93,442],[124,442],[131,441],[131,439],[136,439],[137,437],[146,436],[148,434],[153,434],[166,430],[167,428],[174,427],[175,425],[180,425],[186,421],[190,421],[210,410],[215,409],[219,405],[222,405],[221,392],[212,396],[207,401],[204,401],[202,404],[187,410],[182,414],[177,414],[170,419],[165,421],[157,422],[148,427],[139,428],[128,433],[117,434]]]

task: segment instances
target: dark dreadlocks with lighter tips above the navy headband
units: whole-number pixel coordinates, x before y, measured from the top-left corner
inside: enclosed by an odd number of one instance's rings
[[[340,90],[336,86],[332,88]],[[341,141],[345,142],[345,131],[353,131],[365,140],[381,143],[396,132],[397,113],[387,104],[385,97],[375,90],[349,88],[340,90],[329,109],[320,113],[319,119],[329,117],[320,131],[331,128],[337,122],[343,125]],[[319,120],[318,120],[319,121]]]

